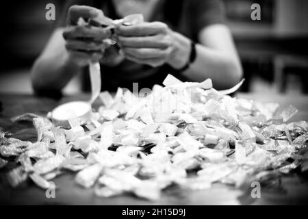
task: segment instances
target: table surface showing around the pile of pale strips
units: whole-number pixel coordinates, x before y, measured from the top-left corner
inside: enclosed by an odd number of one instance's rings
[[[240,98],[263,102],[292,104],[300,111],[292,120],[308,120],[308,96],[281,96],[272,94],[244,94]],[[88,100],[87,94],[64,97],[61,101],[30,95],[0,94],[2,110],[0,127],[5,131],[29,128],[29,124],[13,125],[12,116],[33,112],[45,115],[56,105],[72,100]],[[98,103],[97,103],[98,104]],[[31,136],[30,136],[31,137]],[[30,138],[29,137],[29,138]],[[75,175],[64,174],[53,180],[57,186],[55,198],[47,198],[45,191],[33,183],[12,189],[0,184],[0,204],[21,205],[295,205],[308,203],[308,179],[297,174],[282,177],[281,189],[261,188],[261,198],[251,198],[251,190],[237,190],[227,185],[215,184],[207,190],[190,191],[170,188],[162,193],[159,201],[150,202],[130,195],[99,198],[92,189],[84,189],[75,183]]]

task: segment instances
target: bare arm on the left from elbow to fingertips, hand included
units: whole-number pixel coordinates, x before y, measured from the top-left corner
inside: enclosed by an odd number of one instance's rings
[[[103,12],[86,5],[73,5],[68,9],[66,27],[53,31],[42,55],[32,68],[31,80],[34,90],[49,94],[60,91],[72,77],[81,73],[90,62],[99,62],[107,45],[103,40],[110,38],[111,30],[78,22],[104,18]]]

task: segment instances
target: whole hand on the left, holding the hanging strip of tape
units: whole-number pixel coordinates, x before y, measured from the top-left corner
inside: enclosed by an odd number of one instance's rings
[[[103,11],[84,5],[73,5],[68,9],[66,29],[63,37],[68,51],[68,62],[77,66],[87,66],[89,62],[99,62],[109,44],[103,40],[111,38],[112,31],[106,27],[79,26],[79,18],[85,20],[103,16]]]

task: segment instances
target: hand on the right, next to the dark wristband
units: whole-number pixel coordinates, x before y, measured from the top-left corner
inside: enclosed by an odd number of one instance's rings
[[[190,40],[164,23],[121,25],[116,34],[128,60],[153,67],[169,64],[176,69],[188,63]]]

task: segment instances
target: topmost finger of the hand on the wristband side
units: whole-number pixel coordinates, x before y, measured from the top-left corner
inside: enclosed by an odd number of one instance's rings
[[[162,22],[140,23],[131,26],[121,25],[116,29],[120,36],[153,36],[156,34],[165,34],[168,26]]]

